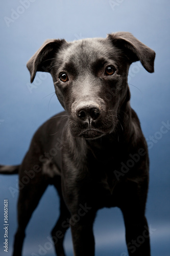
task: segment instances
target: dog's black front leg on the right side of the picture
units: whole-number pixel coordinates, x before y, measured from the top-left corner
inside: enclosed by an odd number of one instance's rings
[[[143,182],[142,189],[136,189],[136,186],[130,183],[129,191],[126,189],[123,192],[125,201],[122,212],[128,252],[130,256],[151,256],[149,227],[144,214],[147,185]]]

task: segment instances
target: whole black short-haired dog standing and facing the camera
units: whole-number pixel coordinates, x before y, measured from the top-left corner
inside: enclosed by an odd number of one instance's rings
[[[29,60],[31,82],[37,71],[50,72],[65,112],[38,129],[21,165],[1,166],[1,173],[19,173],[14,256],[21,255],[26,226],[48,184],[61,197],[52,231],[58,256],[65,255],[68,219],[74,255],[93,256],[96,211],[114,206],[123,212],[129,255],[150,255],[144,216],[148,150],[130,107],[127,80],[132,62],[140,60],[152,73],[154,59],[155,52],[131,33],[118,32],[73,42],[47,40]]]

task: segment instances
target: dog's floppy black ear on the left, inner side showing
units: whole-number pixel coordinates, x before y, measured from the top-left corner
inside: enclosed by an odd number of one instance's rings
[[[50,72],[53,67],[55,54],[64,42],[66,42],[64,39],[48,39],[31,57],[27,62],[27,68],[31,75],[31,82],[34,81],[37,71]]]

